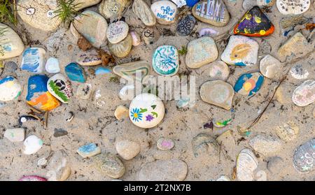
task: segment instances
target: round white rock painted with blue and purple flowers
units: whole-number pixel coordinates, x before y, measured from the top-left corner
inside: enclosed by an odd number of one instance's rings
[[[156,127],[164,116],[164,103],[153,94],[139,94],[130,103],[129,117],[137,127],[144,129]]]

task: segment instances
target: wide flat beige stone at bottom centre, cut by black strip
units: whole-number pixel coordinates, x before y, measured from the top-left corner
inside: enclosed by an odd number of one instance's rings
[[[183,181],[188,166],[179,159],[157,160],[141,167],[139,181]]]

